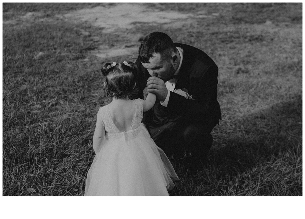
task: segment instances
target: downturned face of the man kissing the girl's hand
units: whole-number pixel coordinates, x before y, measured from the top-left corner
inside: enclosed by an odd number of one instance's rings
[[[143,67],[147,69],[151,76],[156,76],[164,82],[171,79],[175,73],[171,60],[162,60],[160,53],[154,53],[153,56],[155,57],[150,58],[149,63],[142,62]]]

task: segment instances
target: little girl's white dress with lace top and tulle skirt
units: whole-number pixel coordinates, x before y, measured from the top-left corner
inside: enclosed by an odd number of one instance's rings
[[[115,126],[108,105],[99,109],[106,135],[99,148],[94,148],[85,196],[168,196],[172,180],[178,180],[167,156],[141,124],[142,101],[133,101],[136,110],[127,132]]]

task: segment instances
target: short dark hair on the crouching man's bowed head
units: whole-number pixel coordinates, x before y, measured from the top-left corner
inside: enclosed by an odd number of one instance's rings
[[[148,34],[139,48],[140,62],[149,63],[154,53],[160,53],[162,59],[169,59],[176,49],[172,39],[162,32]]]

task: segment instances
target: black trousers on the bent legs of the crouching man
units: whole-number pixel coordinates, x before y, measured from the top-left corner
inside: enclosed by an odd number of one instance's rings
[[[181,147],[192,154],[194,161],[205,160],[212,147],[211,131],[217,122],[198,122],[192,118],[178,116],[167,123],[156,126],[145,124],[156,145],[169,156]]]

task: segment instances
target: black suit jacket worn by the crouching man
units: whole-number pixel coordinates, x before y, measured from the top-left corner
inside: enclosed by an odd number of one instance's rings
[[[183,49],[183,59],[175,89],[186,89],[195,100],[186,99],[170,91],[167,107],[161,106],[160,101],[157,100],[154,107],[145,113],[143,122],[158,126],[182,116],[214,127],[221,119],[217,101],[218,67],[198,48],[180,43],[175,43],[175,46]],[[142,91],[150,75],[138,59],[135,63],[139,69],[138,98],[143,98]]]

